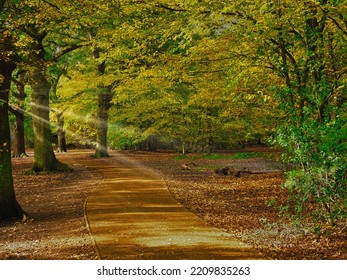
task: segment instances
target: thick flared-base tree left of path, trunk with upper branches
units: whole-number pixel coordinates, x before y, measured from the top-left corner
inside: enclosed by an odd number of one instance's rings
[[[66,16],[73,16],[72,14],[65,14],[66,11],[63,5],[46,5],[46,7],[34,6],[35,14],[41,14],[43,12],[42,9],[48,9],[53,15],[60,17],[61,20],[64,20]],[[36,18],[37,24],[35,26],[29,25],[28,28],[24,28],[26,34],[33,40],[29,45],[27,61],[30,65],[29,83],[32,88],[31,113],[33,114],[34,130],[34,171],[67,169],[67,166],[56,159],[52,147],[49,103],[49,93],[52,84],[47,70],[50,63],[56,62],[66,53],[81,47],[81,40],[79,39],[67,42],[64,40],[64,37],[71,31],[64,30],[61,35],[63,38],[55,34],[55,32],[58,32],[55,23],[58,23],[60,20],[58,18],[53,19],[51,16],[48,18],[38,17]],[[63,23],[68,24],[68,22],[64,21]],[[48,24],[51,24],[51,29],[47,30]],[[64,32],[66,33],[64,34]],[[57,49],[58,51],[56,51]]]

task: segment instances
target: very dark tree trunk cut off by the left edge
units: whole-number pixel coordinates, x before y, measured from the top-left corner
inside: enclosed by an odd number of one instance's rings
[[[0,60],[0,220],[20,218],[24,213],[17,203],[12,177],[8,96],[14,68],[12,63]]]

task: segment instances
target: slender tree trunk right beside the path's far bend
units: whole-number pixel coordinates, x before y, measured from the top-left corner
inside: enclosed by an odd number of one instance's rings
[[[98,99],[98,122],[96,134],[95,157],[108,157],[107,152],[107,130],[108,130],[108,113],[111,108],[112,88],[102,88]]]

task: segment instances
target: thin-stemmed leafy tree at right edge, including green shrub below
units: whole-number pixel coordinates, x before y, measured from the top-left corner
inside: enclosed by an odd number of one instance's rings
[[[276,81],[269,89],[285,116],[277,144],[291,169],[292,210],[334,224],[347,213],[346,6],[235,1],[229,8],[237,12],[230,33],[241,42],[240,61]]]

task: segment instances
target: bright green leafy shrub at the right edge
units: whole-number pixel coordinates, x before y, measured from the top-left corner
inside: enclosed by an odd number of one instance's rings
[[[305,120],[286,125],[278,143],[287,151],[285,187],[292,194],[296,214],[310,213],[334,224],[347,217],[347,125],[346,120],[319,123]]]

